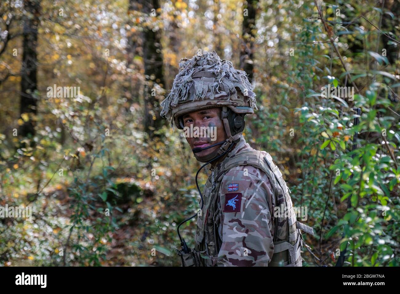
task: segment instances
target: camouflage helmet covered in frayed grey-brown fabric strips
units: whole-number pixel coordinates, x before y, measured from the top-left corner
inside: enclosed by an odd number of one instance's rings
[[[161,102],[161,116],[183,129],[179,120],[184,114],[225,106],[238,114],[252,114],[257,109],[246,72],[235,70],[232,62],[221,60],[215,51],[182,58],[171,92]]]

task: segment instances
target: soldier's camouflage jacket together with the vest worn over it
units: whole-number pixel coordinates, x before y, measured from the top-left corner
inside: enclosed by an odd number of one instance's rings
[[[272,166],[266,171],[273,169],[274,172],[267,174],[256,164],[247,165],[247,161],[239,166],[235,164],[243,159],[242,154],[250,154],[246,152],[253,154],[254,162],[254,153],[258,151],[241,136],[234,149],[211,169],[202,193],[203,210],[197,217],[196,263],[200,266],[301,266],[302,235],[296,225],[302,225],[301,229],[310,234],[312,228],[296,221],[286,183],[268,153],[256,154],[259,161],[270,158]],[[266,166],[265,162],[262,166]],[[274,173],[279,180],[274,178]],[[287,210],[286,214],[274,215],[276,207]]]

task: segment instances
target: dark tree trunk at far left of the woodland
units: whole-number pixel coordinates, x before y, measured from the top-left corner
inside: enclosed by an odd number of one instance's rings
[[[21,104],[20,114],[27,113],[28,121],[20,127],[21,136],[34,136],[35,128],[32,115],[37,113],[37,99],[34,92],[37,89],[37,54],[36,46],[38,40],[39,9],[40,0],[25,0],[24,9],[26,14],[23,18],[23,41],[22,41],[22,67],[21,67]]]

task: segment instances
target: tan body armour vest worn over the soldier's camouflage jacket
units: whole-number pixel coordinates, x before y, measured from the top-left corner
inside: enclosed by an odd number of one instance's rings
[[[296,220],[289,189],[278,166],[272,162],[270,154],[254,149],[225,158],[216,166],[213,176],[210,175],[208,178],[203,190],[203,209],[197,216],[196,244],[194,250],[190,249],[189,254],[180,254],[182,266],[218,265],[218,252],[222,244],[222,237],[218,232],[220,185],[224,175],[237,166],[254,166],[264,172],[272,187],[275,205],[280,207],[280,211],[285,212],[276,214],[272,218],[274,250],[268,266],[302,266],[300,250],[303,247],[303,238],[300,230],[313,234],[313,229]],[[230,189],[234,190],[235,186],[232,187]],[[238,252],[238,254],[245,253]]]

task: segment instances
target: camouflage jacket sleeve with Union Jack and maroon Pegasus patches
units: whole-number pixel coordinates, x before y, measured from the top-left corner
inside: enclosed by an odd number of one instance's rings
[[[268,266],[274,253],[272,189],[266,176],[242,169],[226,173],[220,186],[218,266]]]

